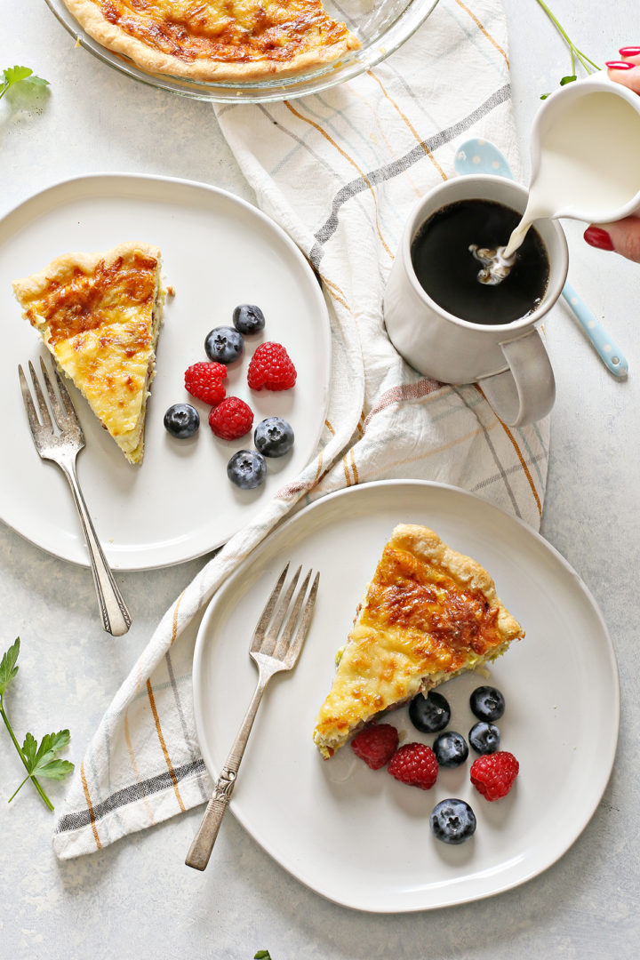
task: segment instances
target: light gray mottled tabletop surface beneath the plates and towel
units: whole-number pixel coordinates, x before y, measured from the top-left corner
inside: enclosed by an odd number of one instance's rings
[[[524,146],[539,94],[570,72],[570,62],[534,0],[506,0],[506,6]],[[554,9],[599,62],[615,59],[620,45],[640,43],[637,0],[617,0],[606,11],[595,0],[557,0]],[[133,84],[74,49],[41,0],[3,0],[2,20],[0,64],[33,66],[52,88],[40,113],[10,112],[0,103],[0,214],[54,180],[99,170],[206,180],[251,199],[210,107]],[[460,69],[463,82],[463,63]],[[269,948],[273,960],[638,955],[640,266],[590,250],[581,230],[567,228],[570,280],[626,351],[630,375],[626,383],[610,376],[568,312],[557,311],[547,329],[557,404],[543,534],[601,605],[619,659],[623,704],[614,773],[578,842],[545,874],[510,893],[399,917],[352,913],[320,899],[274,864],[232,817],[218,841],[215,869],[188,871],[182,860],[200,810],[99,855],[59,864],[50,844],[53,818],[35,791],[25,790],[11,807],[5,803],[21,767],[0,731],[2,960],[243,960],[258,948]],[[12,429],[13,411],[3,415],[3,428]],[[15,727],[68,726],[79,759],[158,616],[200,565],[119,575],[134,625],[114,641],[100,629],[88,572],[0,525],[1,645],[17,635],[23,640],[22,683],[11,694]],[[550,793],[558,786],[550,783]],[[51,796],[61,804],[63,786],[53,784]]]

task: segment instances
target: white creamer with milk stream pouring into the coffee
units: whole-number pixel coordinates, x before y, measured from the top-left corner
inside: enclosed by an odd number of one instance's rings
[[[561,87],[538,110],[531,149],[529,201],[505,258],[533,221],[603,224],[640,208],[640,97],[627,87],[600,76]]]

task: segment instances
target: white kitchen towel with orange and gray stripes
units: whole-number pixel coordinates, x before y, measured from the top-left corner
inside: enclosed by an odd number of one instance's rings
[[[542,511],[548,422],[509,429],[476,386],[419,376],[391,347],[381,311],[408,212],[453,174],[457,142],[493,140],[519,171],[502,0],[440,0],[401,50],[351,83],[217,112],[257,204],[320,277],[333,346],[326,429],[296,482],[165,613],[79,764],[54,837],[60,857],[100,850],[207,799],[191,694],[200,615],[296,506],[407,477],[477,492],[534,527]]]

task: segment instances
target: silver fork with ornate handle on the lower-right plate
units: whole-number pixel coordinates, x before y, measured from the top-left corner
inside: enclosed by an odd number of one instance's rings
[[[206,805],[201,819],[201,825],[198,828],[198,832],[194,837],[194,841],[184,861],[187,867],[193,867],[194,870],[204,870],[209,862],[213,845],[218,836],[218,830],[225,815],[226,806],[231,797],[233,787],[235,786],[240,761],[245,753],[249,733],[251,732],[262,694],[265,692],[265,687],[272,679],[274,673],[279,673],[281,670],[291,670],[292,667],[296,665],[296,660],[302,649],[302,643],[304,642],[305,636],[307,636],[311,614],[316,603],[320,573],[317,573],[314,578],[314,582],[309,590],[309,596],[302,610],[304,596],[313,575],[313,570],[309,570],[307,573],[292,603],[292,597],[301,569],[302,567],[298,566],[291,583],[286,588],[284,596],[278,604],[280,593],[282,592],[289,570],[289,564],[285,566],[253,632],[249,656],[257,664],[258,683],[255,687],[255,692],[253,693],[253,698],[245,714],[242,726],[236,734],[233,746],[226,757],[223,771],[213,789],[211,800]],[[302,612],[300,613],[301,610]],[[282,628],[287,612],[289,612],[289,617],[280,635],[280,629]]]

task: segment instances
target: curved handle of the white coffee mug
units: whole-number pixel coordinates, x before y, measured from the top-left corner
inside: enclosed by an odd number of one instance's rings
[[[542,420],[556,399],[556,380],[549,354],[537,329],[500,344],[509,370],[478,380],[497,417],[508,426]]]

